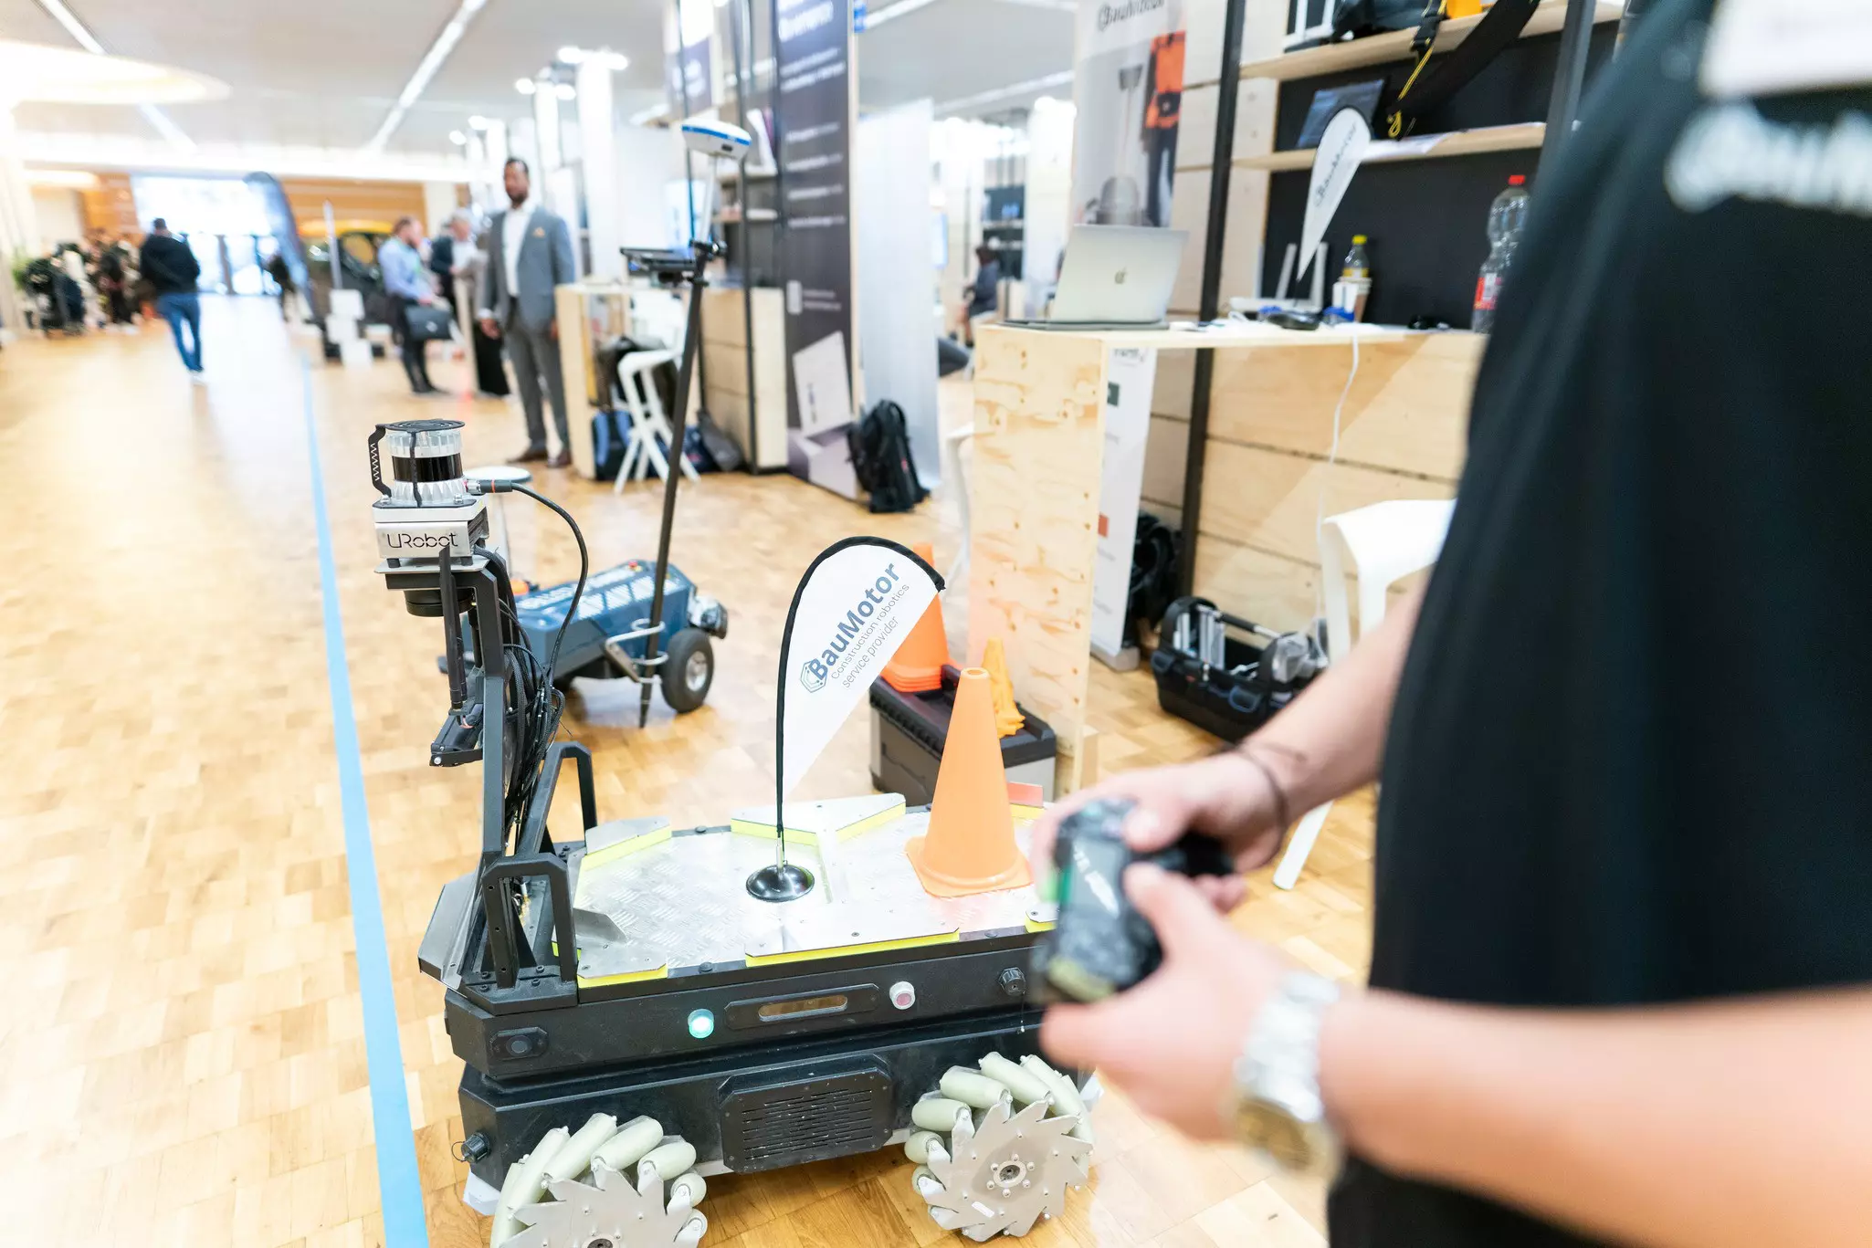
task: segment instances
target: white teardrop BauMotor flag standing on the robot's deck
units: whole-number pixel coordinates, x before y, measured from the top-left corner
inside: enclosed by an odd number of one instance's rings
[[[782,801],[940,588],[936,569],[882,537],[848,537],[807,569],[781,638]]]

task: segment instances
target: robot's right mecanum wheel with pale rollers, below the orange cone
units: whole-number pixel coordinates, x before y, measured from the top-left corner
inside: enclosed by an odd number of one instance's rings
[[[1039,1057],[1000,1053],[981,1070],[951,1067],[912,1110],[917,1132],[904,1154],[930,1218],[981,1242],[1026,1235],[1065,1209],[1086,1183],[1091,1123],[1073,1080]]]

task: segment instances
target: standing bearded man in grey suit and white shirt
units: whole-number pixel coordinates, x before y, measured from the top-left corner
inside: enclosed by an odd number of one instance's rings
[[[547,468],[571,464],[565,425],[565,376],[560,372],[560,324],[552,290],[575,279],[573,239],[565,221],[535,208],[526,161],[513,157],[502,170],[511,208],[494,213],[487,232],[487,281],[481,283],[481,329],[505,339],[526,410],[526,449],[515,464],[547,460]],[[552,425],[560,449],[547,457],[547,421],[539,410],[539,382],[552,397]]]

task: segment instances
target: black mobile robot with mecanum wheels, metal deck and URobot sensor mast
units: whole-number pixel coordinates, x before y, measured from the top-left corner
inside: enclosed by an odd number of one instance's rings
[[[1035,891],[927,894],[904,844],[929,814],[897,795],[790,810],[818,887],[786,902],[743,887],[773,861],[771,812],[601,823],[592,754],[552,739],[552,653],[584,571],[539,659],[481,490],[532,492],[472,486],[451,421],[386,425],[384,453],[378,573],[442,619],[449,709],[431,762],[481,763],[479,863],[444,887],[417,956],[447,990],[464,1197],[494,1216],[494,1244],[693,1246],[704,1175],[887,1145],[945,1229],[987,1241],[1058,1214],[1086,1181],[1091,1126],[1088,1089],[1037,1053],[1028,967],[1050,913]],[[554,834],[565,762],[578,831]]]

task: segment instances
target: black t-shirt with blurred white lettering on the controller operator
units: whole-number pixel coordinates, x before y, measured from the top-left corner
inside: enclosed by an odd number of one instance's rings
[[[1372,984],[1872,982],[1872,90],[1638,26],[1535,189],[1398,689]],[[1580,1244],[1353,1160],[1335,1248]]]

